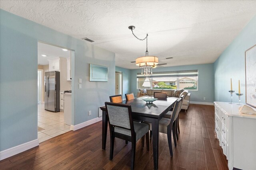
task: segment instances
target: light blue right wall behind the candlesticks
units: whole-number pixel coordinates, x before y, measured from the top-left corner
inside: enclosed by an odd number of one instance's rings
[[[230,102],[230,78],[233,90],[238,92],[240,80],[241,102],[245,103],[245,51],[256,44],[256,16],[244,27],[234,41],[214,63],[215,101]],[[256,66],[255,66],[256,67]],[[234,95],[233,102],[238,102]]]

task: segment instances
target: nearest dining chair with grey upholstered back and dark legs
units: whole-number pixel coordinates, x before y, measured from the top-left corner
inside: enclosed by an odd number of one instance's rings
[[[132,143],[131,169],[134,169],[136,142],[146,135],[146,147],[149,151],[149,125],[134,122],[132,119],[132,107],[126,104],[105,102],[106,115],[110,129],[110,160],[113,159],[114,138],[120,138]],[[143,146],[142,146],[143,147]]]

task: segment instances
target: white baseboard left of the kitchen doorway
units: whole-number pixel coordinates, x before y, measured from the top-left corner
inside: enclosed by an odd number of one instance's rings
[[[39,145],[38,139],[35,139],[33,141],[29,141],[27,143],[23,143],[21,145],[18,145],[16,147],[12,147],[6,150],[3,150],[0,152],[0,160],[3,160],[5,158],[9,158],[10,156],[16,155],[18,153],[24,152],[25,150],[34,148]]]

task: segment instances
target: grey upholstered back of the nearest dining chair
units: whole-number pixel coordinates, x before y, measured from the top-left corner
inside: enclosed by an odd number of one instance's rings
[[[126,104],[105,102],[110,129],[120,127],[133,130],[132,107]]]

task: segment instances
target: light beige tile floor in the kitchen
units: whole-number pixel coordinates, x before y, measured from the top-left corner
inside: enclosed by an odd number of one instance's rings
[[[38,132],[39,143],[70,131],[64,121],[64,112],[46,111],[44,104],[38,104],[38,126],[44,128]]]

